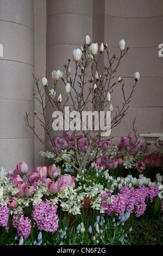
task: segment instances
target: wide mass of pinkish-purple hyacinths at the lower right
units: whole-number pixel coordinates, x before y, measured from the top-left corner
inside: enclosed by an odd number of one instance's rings
[[[142,185],[136,189],[124,186],[121,188],[120,193],[114,196],[113,203],[107,202],[108,197],[111,197],[111,193],[103,193],[101,196],[102,207],[108,215],[111,215],[111,212],[114,211],[116,217],[124,214],[126,210],[131,214],[136,209],[135,216],[139,217],[145,212],[148,200],[152,203],[153,198],[158,196],[158,194],[158,185],[151,185],[149,188]]]

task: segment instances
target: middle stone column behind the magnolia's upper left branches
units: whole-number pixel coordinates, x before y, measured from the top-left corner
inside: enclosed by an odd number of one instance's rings
[[[52,71],[64,70],[64,63],[72,60],[72,51],[84,45],[84,38],[90,35],[92,41],[91,0],[48,0],[47,1],[47,80],[53,88]],[[75,74],[74,62],[70,63],[71,76]],[[65,86],[59,81],[57,94],[66,96]],[[47,118],[52,121],[53,109],[47,108]],[[53,132],[54,136],[61,132]],[[49,139],[46,138],[46,143]]]

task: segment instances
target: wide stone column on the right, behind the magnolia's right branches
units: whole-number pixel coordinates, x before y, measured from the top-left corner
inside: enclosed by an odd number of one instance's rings
[[[132,121],[136,117],[137,134],[161,132],[162,109],[162,58],[159,57],[159,44],[162,38],[162,1],[148,0],[105,0],[105,41],[110,54],[119,54],[118,43],[126,41],[129,51],[122,59],[116,79],[121,76],[125,82],[127,95],[134,83],[135,71],[140,72],[140,80],[130,102],[128,114],[111,136],[128,136]],[[120,85],[114,93],[112,105],[122,105]]]

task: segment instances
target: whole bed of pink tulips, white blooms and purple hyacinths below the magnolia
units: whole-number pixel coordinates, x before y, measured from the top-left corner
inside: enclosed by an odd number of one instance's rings
[[[162,154],[131,154],[124,137],[121,145],[109,145],[80,175],[47,152],[56,161],[48,167],[2,168],[1,245],[129,245],[133,221],[161,218]],[[150,167],[153,179],[143,175]]]

